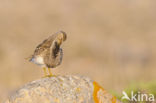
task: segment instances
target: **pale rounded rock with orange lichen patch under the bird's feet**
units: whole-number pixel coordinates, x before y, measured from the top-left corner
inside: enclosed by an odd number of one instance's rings
[[[55,76],[32,81],[5,103],[120,103],[84,76]]]

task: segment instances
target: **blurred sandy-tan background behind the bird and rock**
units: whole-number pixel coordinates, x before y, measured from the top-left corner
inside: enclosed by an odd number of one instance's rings
[[[0,102],[43,77],[25,58],[59,30],[68,38],[55,75],[88,76],[117,94],[156,89],[155,0],[0,0]]]

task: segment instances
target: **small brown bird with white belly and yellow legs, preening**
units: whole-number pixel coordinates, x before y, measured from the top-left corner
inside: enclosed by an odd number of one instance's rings
[[[29,61],[42,67],[45,77],[52,77],[51,69],[62,63],[63,50],[61,44],[66,41],[66,39],[67,34],[64,31],[58,31],[40,43],[36,47],[33,55],[31,55]],[[49,75],[47,75],[47,69]]]

